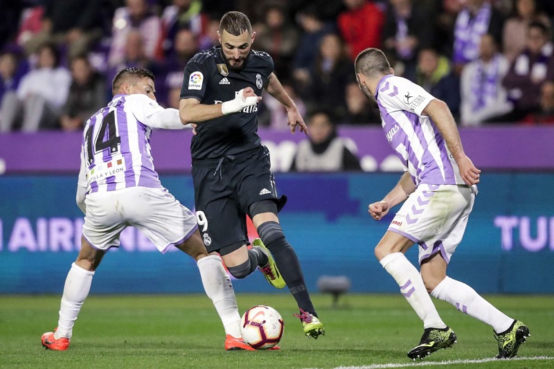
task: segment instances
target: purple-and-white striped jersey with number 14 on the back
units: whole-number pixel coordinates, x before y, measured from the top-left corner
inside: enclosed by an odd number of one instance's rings
[[[157,125],[150,118],[163,110],[142,94],[116,95],[87,120],[81,145],[81,171],[87,182],[80,186],[86,186],[87,193],[161,188],[150,154],[150,134]]]

